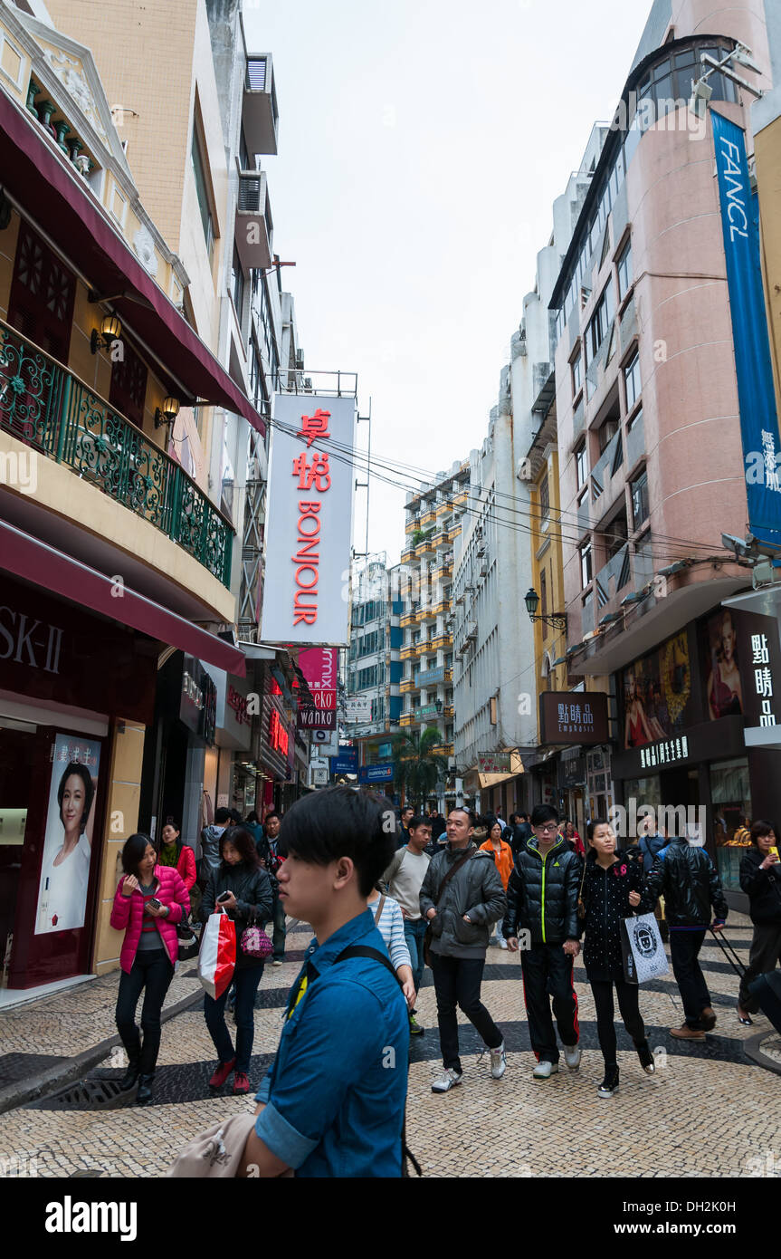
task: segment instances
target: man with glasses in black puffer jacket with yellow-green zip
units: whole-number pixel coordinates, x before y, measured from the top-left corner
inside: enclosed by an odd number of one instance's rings
[[[571,1071],[580,1066],[577,996],[572,982],[580,953],[577,893],[582,860],[558,832],[558,813],[551,805],[532,812],[535,837],[516,857],[507,886],[507,915],[502,930],[511,949],[518,948],[518,932],[528,933],[521,951],[523,997],[528,1034],[537,1058],[533,1075],[547,1080],[558,1070],[558,1046],[551,1001]]]

